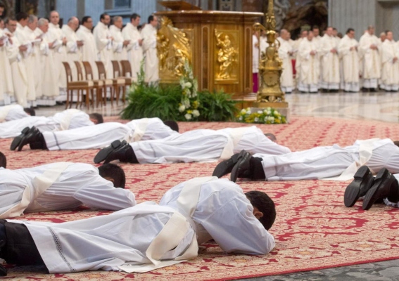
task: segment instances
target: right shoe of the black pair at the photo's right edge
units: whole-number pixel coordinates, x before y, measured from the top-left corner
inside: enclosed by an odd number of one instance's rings
[[[370,188],[366,193],[365,200],[363,200],[362,209],[368,210],[377,200],[383,200],[384,198],[393,194],[391,188],[396,187],[393,185],[394,181],[396,181],[395,177],[392,176],[387,169],[381,169],[374,178],[374,184],[372,188]]]

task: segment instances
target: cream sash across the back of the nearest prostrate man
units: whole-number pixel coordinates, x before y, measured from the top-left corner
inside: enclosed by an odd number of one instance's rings
[[[191,221],[191,216],[194,214],[198,204],[201,185],[208,181],[213,181],[216,178],[217,177],[215,176],[193,178],[185,183],[184,188],[180,192],[179,198],[177,199],[177,206],[179,207],[179,211],[183,214],[180,214],[178,211],[176,211],[146,250],[146,256],[152,263],[147,263],[144,265],[127,264],[119,266],[119,268],[128,273],[145,273],[158,268],[163,268],[165,266],[172,266],[173,264],[181,263],[182,261],[186,261],[188,259],[194,259],[196,256],[198,256],[198,242],[196,240],[196,233],[194,233],[189,247],[182,255],[168,261],[160,260],[167,253],[167,251],[177,247],[179,242],[186,235],[187,230],[189,230],[189,221]],[[184,215],[189,216],[189,218]],[[194,223],[192,227],[195,228]]]

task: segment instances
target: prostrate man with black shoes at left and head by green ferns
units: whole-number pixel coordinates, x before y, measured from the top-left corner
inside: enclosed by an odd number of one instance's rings
[[[173,128],[173,129],[172,129]],[[132,120],[127,124],[106,122],[97,126],[86,126],[68,131],[41,132],[35,127],[25,128],[11,143],[11,150],[22,150],[29,144],[31,149],[84,150],[104,148],[115,139],[140,141],[179,135],[179,126],[174,121],[162,122],[158,118]]]

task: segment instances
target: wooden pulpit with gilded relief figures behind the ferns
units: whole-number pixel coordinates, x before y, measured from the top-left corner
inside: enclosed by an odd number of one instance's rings
[[[189,60],[198,91],[223,90],[236,100],[251,97],[252,26],[262,13],[164,11],[156,15],[161,19],[161,83],[178,82],[184,60]]]

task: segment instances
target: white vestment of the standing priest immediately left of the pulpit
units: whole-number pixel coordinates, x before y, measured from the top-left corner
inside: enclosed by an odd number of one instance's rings
[[[156,82],[158,74],[158,55],[156,50],[156,27],[148,24],[141,30],[143,37],[144,52],[144,72],[146,72],[146,82]]]

